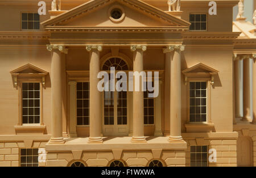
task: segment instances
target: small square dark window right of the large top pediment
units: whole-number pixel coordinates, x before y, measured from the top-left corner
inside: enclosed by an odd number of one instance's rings
[[[207,31],[207,14],[189,14],[190,31]]]

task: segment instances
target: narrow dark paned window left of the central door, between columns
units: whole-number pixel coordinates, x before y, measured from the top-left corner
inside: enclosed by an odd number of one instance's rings
[[[89,82],[77,82],[77,125],[89,125]]]

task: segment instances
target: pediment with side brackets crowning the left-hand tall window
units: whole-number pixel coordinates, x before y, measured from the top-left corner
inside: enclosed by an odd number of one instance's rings
[[[17,87],[18,78],[42,78],[42,83],[44,85],[45,77],[48,74],[47,71],[40,69],[31,63],[20,66],[17,69],[10,71],[10,73],[13,77],[15,87]]]

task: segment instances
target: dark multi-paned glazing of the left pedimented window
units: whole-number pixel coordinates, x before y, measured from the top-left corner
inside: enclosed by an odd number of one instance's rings
[[[40,83],[22,83],[22,124],[40,124]]]

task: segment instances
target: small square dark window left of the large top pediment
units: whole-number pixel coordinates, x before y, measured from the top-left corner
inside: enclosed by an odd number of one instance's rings
[[[22,29],[40,29],[38,13],[22,13]]]

